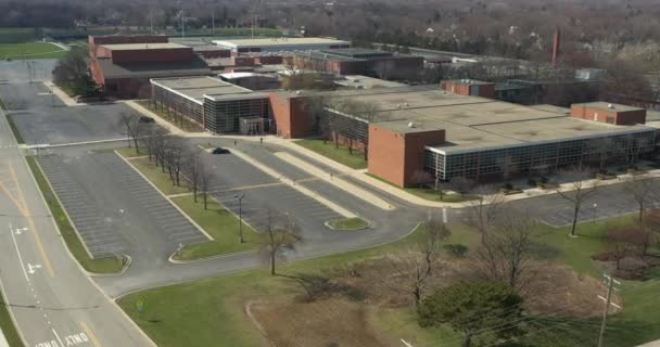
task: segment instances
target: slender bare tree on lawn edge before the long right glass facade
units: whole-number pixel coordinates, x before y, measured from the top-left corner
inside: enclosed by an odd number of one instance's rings
[[[556,191],[559,196],[572,205],[573,222],[571,226],[571,236],[574,236],[580,210],[584,203],[596,194],[598,184],[597,181],[593,181],[592,183],[587,182],[593,176],[588,169],[573,168],[564,171],[563,175],[570,179],[571,182],[567,188],[558,185]]]

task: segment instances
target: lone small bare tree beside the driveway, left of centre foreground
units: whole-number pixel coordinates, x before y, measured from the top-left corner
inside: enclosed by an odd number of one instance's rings
[[[262,235],[261,250],[268,259],[270,274],[277,274],[277,258],[282,248],[293,246],[301,240],[299,226],[288,216],[276,216],[271,209],[267,211],[266,232]]]

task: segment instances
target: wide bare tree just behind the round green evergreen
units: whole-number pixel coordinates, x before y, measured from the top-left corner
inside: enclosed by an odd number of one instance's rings
[[[537,228],[538,223],[531,217],[499,216],[493,232],[486,233],[477,248],[474,264],[479,273],[522,291],[531,279],[533,235]]]

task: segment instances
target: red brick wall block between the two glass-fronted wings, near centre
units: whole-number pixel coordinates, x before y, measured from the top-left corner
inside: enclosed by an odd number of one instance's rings
[[[305,98],[270,93],[272,118],[277,133],[284,139],[300,139],[312,136],[312,119],[305,111]]]

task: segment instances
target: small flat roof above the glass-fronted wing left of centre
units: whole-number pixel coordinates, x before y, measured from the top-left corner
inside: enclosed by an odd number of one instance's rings
[[[151,82],[189,100],[201,103],[206,95],[250,94],[252,91],[210,76],[153,78]]]

